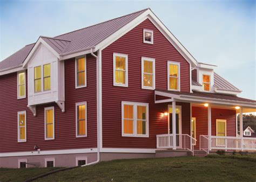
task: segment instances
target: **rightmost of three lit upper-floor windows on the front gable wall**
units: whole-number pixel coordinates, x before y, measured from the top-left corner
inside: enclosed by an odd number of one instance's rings
[[[180,65],[179,62],[168,61],[168,90],[180,90]]]

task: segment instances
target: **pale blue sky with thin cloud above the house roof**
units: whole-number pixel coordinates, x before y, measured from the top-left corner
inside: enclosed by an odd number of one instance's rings
[[[255,1],[0,0],[0,60],[34,43],[151,8],[199,61],[256,99]]]

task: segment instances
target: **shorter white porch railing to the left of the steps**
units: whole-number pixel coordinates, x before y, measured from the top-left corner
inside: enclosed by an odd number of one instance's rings
[[[194,155],[193,143],[197,139],[187,134],[176,134],[176,148],[190,150]],[[173,149],[173,134],[157,135],[157,149]]]

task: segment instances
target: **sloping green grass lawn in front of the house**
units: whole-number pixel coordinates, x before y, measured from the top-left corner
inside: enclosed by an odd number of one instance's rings
[[[0,169],[0,181],[21,181],[25,179],[24,173],[28,173],[26,177],[34,177],[36,172],[43,173],[43,170],[46,169]],[[256,181],[256,157],[209,156],[113,160],[38,179],[38,181],[111,180]]]

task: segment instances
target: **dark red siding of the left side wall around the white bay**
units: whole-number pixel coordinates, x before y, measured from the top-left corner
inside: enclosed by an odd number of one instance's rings
[[[75,89],[75,59],[65,60],[65,113],[57,104],[37,106],[37,116],[17,99],[17,73],[0,76],[0,152],[60,150],[97,147],[96,59],[87,56],[87,87]],[[28,93],[28,92],[26,92]],[[76,138],[76,102],[87,101],[87,137]],[[55,139],[44,140],[44,108],[55,107]],[[26,140],[17,142],[17,112],[26,110]]]

